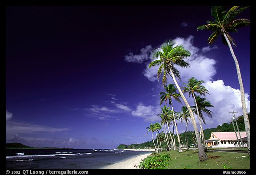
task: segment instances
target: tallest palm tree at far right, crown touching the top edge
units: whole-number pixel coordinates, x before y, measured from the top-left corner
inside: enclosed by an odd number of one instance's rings
[[[212,44],[219,35],[222,36],[222,41],[224,44],[228,44],[229,50],[232,54],[236,65],[236,72],[238,77],[238,82],[240,85],[240,93],[241,93],[241,103],[243,109],[244,116],[244,126],[247,136],[247,145],[248,145],[248,154],[250,155],[251,150],[251,128],[247,115],[247,109],[244,98],[244,85],[242,81],[242,76],[240,72],[240,67],[238,60],[236,59],[236,55],[232,49],[232,45],[236,46],[229,32],[237,32],[237,29],[240,27],[244,27],[250,24],[248,19],[235,19],[237,15],[243,12],[246,8],[240,8],[240,6],[233,6],[228,12],[225,11],[225,7],[223,6],[212,6],[211,15],[214,17],[214,21],[207,21],[208,24],[197,27],[197,30],[211,30],[213,31],[212,35],[208,38],[208,43]],[[231,45],[232,43],[232,45]]]

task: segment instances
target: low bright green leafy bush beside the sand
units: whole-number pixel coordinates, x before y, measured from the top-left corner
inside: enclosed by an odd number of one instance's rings
[[[149,156],[140,162],[140,169],[166,169],[169,166],[168,161],[170,160],[169,154]]]

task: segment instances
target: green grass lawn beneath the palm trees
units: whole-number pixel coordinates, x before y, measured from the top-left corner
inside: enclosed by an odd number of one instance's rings
[[[160,152],[158,154],[170,154],[170,166],[167,169],[224,169],[225,164],[232,169],[250,169],[250,156],[244,153],[233,152],[207,152],[208,160],[200,162],[197,150],[183,150]]]

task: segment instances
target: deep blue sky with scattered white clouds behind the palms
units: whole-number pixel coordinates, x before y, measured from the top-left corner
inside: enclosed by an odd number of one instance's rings
[[[250,19],[250,8],[239,18]],[[210,6],[7,6],[6,142],[116,148],[151,140],[146,127],[160,121],[164,89],[147,65],[167,39],[192,52],[180,86],[195,76],[211,90],[214,116],[204,128],[230,121],[228,110],[241,115],[228,47],[220,39],[209,46],[211,32],[196,31],[207,20]],[[249,112],[250,26],[231,35]]]

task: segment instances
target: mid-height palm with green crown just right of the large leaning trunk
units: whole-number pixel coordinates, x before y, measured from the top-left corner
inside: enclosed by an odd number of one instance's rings
[[[196,103],[195,93],[199,93],[200,95],[205,95],[206,93],[208,93],[208,90],[204,86],[202,86],[203,83],[204,83],[203,80],[198,81],[196,78],[192,77],[192,78],[188,79],[188,84],[184,83],[186,86],[183,87],[183,89],[184,89],[183,92],[188,92],[188,97],[190,97],[190,95],[192,95],[192,97],[194,99],[194,103],[196,104],[196,111],[197,111],[196,114],[199,114],[199,110],[198,110],[198,106]],[[201,116],[200,115],[197,115],[197,116],[199,118],[200,133],[204,134]],[[200,136],[201,136],[201,134],[200,134]],[[203,142],[203,144],[206,149],[206,145],[204,142]]]

